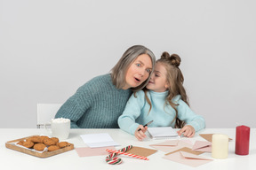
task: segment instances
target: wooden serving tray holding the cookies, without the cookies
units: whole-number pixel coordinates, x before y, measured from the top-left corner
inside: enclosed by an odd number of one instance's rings
[[[71,150],[74,150],[74,144],[70,143],[69,146],[65,147],[65,148],[62,148],[60,150],[56,150],[56,151],[44,151],[42,153],[40,152],[36,152],[36,151],[33,151],[33,150],[30,150],[30,149],[26,149],[26,148],[22,148],[20,146],[17,146],[13,143],[17,143],[19,141],[23,141],[25,139],[28,139],[29,137],[32,137],[32,136],[36,136],[36,135],[31,135],[31,136],[28,136],[28,137],[24,137],[24,138],[20,138],[20,139],[15,139],[13,141],[8,141],[5,143],[5,147],[6,148],[9,148],[11,150],[15,150],[15,151],[20,151],[20,152],[23,152],[23,153],[27,153],[28,155],[33,155],[35,157],[39,157],[39,158],[47,158],[47,157],[52,157],[53,155],[58,155],[60,153],[63,153],[63,152],[66,152],[66,151],[71,151]]]

